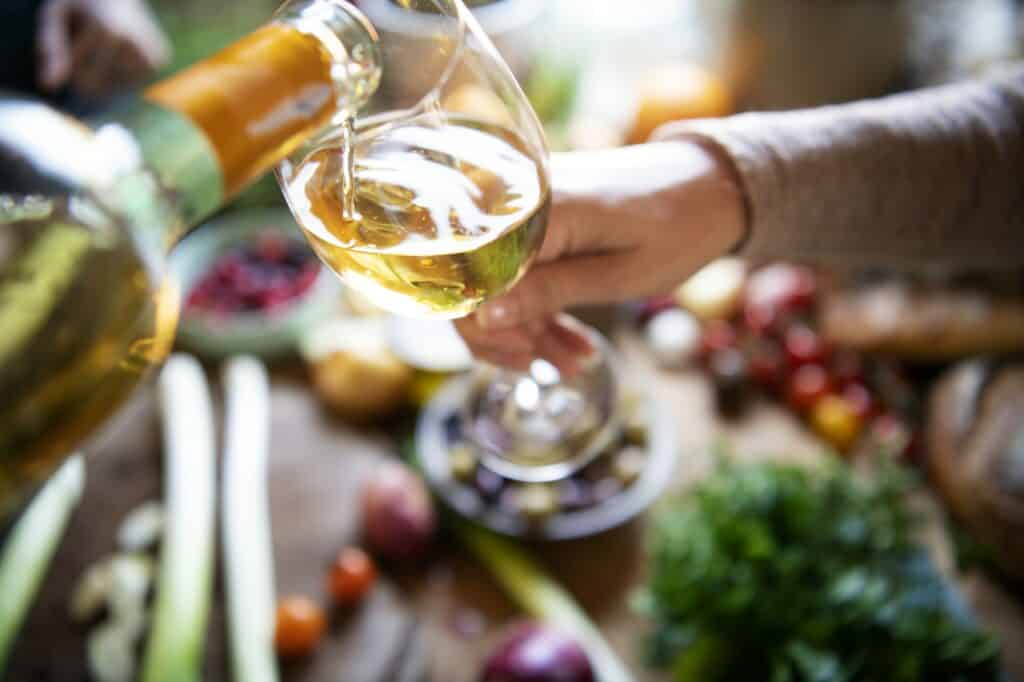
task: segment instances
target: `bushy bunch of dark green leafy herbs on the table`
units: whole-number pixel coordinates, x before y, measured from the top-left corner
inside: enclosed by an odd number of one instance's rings
[[[655,521],[639,604],[680,682],[999,679],[914,542],[905,476],[723,461]]]

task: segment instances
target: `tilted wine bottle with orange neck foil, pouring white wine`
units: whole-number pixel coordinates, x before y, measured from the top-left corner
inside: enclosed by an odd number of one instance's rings
[[[0,95],[0,519],[170,349],[165,256],[380,80],[342,0],[273,20],[101,119]]]

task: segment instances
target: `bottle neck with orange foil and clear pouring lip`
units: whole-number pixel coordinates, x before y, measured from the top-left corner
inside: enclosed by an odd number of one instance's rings
[[[376,88],[376,34],[351,6],[298,0],[286,9],[115,115],[177,214],[166,246]]]

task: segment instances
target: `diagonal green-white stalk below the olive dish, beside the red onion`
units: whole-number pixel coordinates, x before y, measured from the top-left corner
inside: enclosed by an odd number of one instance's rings
[[[466,521],[453,520],[459,537],[527,613],[575,637],[600,682],[632,682],[633,676],[580,604],[515,543]]]

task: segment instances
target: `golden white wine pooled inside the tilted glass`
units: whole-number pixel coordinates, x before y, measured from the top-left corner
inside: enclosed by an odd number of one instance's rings
[[[398,314],[462,317],[526,271],[550,199],[543,164],[514,132],[427,112],[358,133],[351,150],[345,137],[313,148],[285,187],[309,243],[352,289]]]

